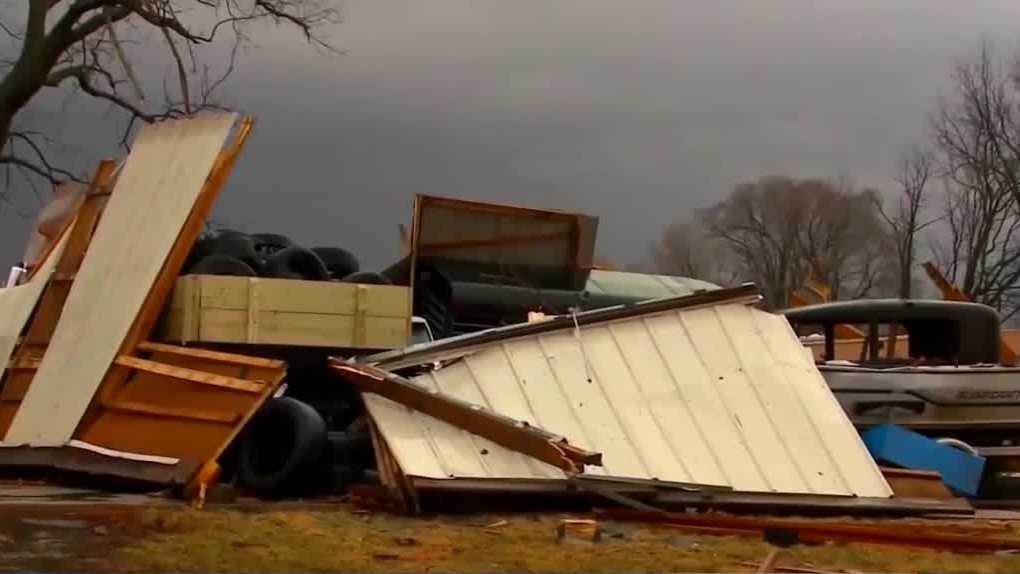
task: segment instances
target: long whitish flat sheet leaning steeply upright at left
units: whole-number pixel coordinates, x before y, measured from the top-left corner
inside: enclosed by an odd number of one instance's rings
[[[235,120],[203,114],[139,132],[5,442],[71,438]]]

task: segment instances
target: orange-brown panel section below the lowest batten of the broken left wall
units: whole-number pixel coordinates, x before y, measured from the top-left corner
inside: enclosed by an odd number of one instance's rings
[[[104,409],[89,428],[75,435],[75,438],[115,451],[190,458],[204,462],[213,457],[233,427],[233,424]]]

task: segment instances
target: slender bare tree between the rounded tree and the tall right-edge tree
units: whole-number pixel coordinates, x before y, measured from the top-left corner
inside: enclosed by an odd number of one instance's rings
[[[886,210],[875,196],[878,214],[888,227],[896,249],[898,295],[910,299],[913,295],[914,266],[920,233],[937,221],[925,218],[926,193],[932,176],[932,156],[928,150],[914,147],[900,161],[896,177],[898,195],[896,209]]]

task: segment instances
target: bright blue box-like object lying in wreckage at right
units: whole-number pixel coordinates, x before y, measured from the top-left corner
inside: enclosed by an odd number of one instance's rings
[[[984,457],[940,445],[895,424],[871,428],[861,433],[861,438],[875,460],[914,470],[936,470],[942,482],[957,494],[977,494]]]

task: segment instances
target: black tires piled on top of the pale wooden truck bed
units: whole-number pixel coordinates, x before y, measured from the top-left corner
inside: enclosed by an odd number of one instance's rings
[[[310,281],[389,284],[379,273],[362,271],[358,259],[339,247],[306,248],[278,233],[220,229],[199,237],[184,273],[274,277]]]

